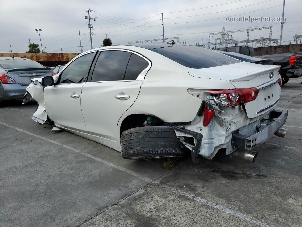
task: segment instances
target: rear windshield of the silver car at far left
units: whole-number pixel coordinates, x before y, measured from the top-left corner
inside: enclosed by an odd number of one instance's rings
[[[3,69],[16,68],[44,68],[43,65],[36,61],[26,59],[4,59],[0,60],[0,67]]]

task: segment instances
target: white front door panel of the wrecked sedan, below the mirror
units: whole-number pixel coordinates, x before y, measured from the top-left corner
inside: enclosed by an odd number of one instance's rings
[[[81,110],[84,84],[58,84],[44,88],[45,109],[51,120],[67,128],[86,130]],[[79,98],[69,97],[71,94],[78,94]]]

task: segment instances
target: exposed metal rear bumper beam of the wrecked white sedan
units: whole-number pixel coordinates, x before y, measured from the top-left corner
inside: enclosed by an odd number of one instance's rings
[[[271,119],[269,119],[271,122],[268,124],[267,127],[259,131],[258,133],[247,136],[247,135],[240,134],[239,130],[235,131],[233,133],[233,138],[232,138],[233,148],[242,146],[246,150],[252,150],[256,146],[259,146],[260,144],[268,140],[268,138],[271,137],[274,133],[278,132],[278,130],[286,122],[287,116],[288,116],[288,110],[286,111],[272,110],[270,113]]]

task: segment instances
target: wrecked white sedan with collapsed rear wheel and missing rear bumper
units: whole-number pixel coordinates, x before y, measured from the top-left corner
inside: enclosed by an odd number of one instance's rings
[[[224,149],[254,161],[250,150],[274,133],[284,137],[288,111],[275,110],[280,66],[184,44],[135,45],[86,51],[55,81],[33,80],[27,88],[39,103],[33,119],[51,119],[126,159],[190,150],[197,162],[198,154],[212,159]],[[234,152],[239,147],[247,151]]]

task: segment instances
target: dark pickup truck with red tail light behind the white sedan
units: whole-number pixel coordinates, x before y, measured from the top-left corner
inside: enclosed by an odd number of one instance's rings
[[[282,77],[282,84],[286,84],[290,78],[297,78],[302,75],[302,52],[255,56],[254,49],[250,46],[231,46],[214,49],[214,51],[217,50],[235,52],[239,54],[254,56],[255,58],[272,60],[273,65],[281,66],[279,69],[279,74]]]

